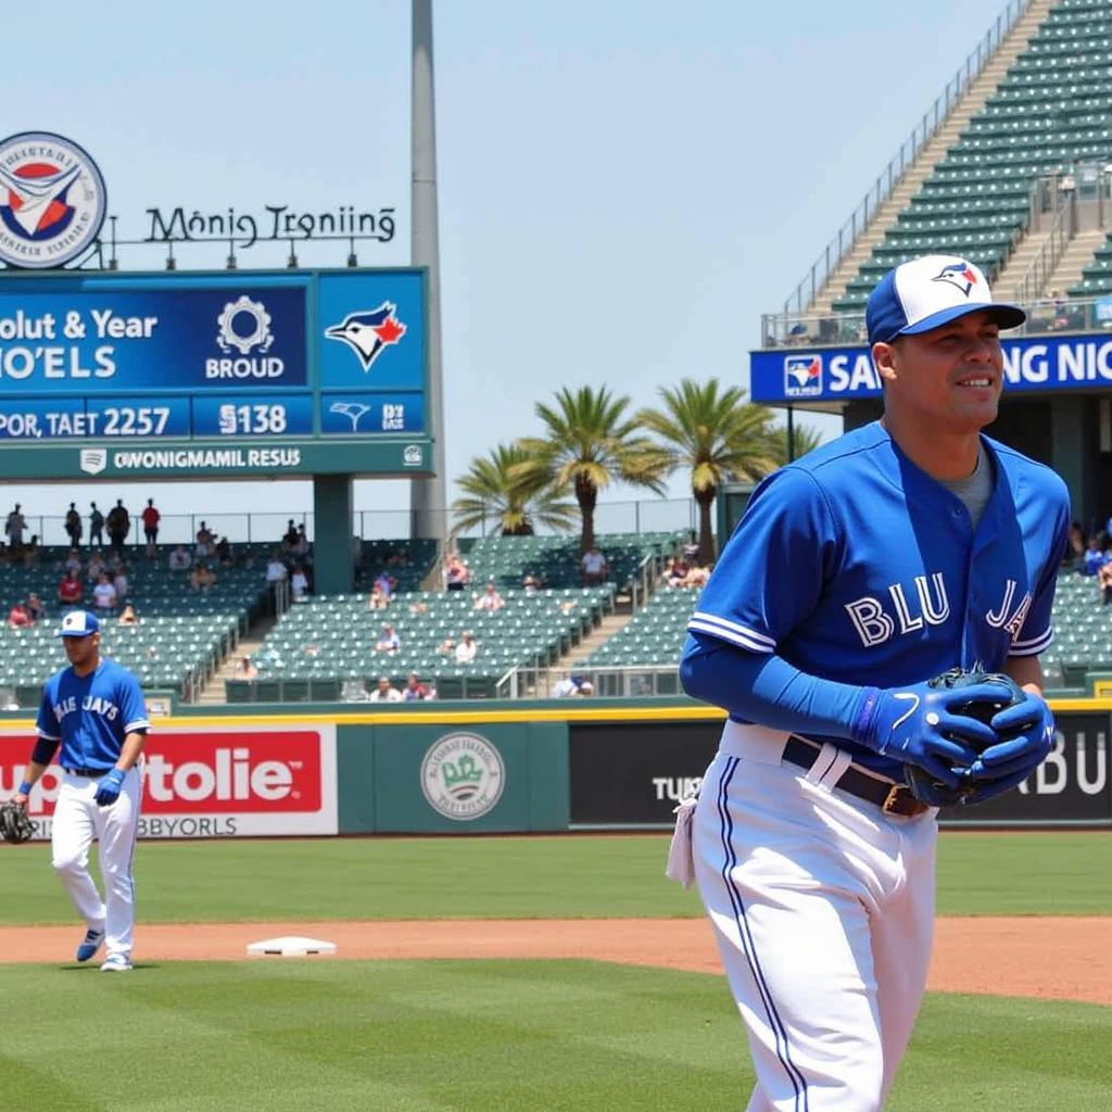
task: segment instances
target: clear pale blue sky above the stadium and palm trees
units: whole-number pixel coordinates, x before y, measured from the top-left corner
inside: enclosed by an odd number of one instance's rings
[[[605,383],[642,406],[685,375],[747,381],[761,311],[794,288],[1002,10],[436,0],[449,497],[473,457],[537,431],[534,404],[562,385]],[[394,205],[395,242],[361,261],[409,261],[408,0],[58,0],[49,12],[10,21],[0,131],[81,143],[121,237],[146,235],[152,206]],[[222,265],[222,252],[180,257]],[[282,261],[256,248],[240,265]],[[148,248],[129,265],[162,257]],[[407,492],[360,483],[356,506],[405,507]],[[153,495],[170,514],[311,506],[307,483],[80,492],[117,495],[132,509]],[[60,515],[71,495],[9,496]]]

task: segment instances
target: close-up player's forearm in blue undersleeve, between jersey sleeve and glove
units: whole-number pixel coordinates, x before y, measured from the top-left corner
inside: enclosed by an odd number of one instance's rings
[[[691,634],[679,665],[684,691],[746,722],[788,733],[852,738],[870,688],[801,672],[775,654]]]

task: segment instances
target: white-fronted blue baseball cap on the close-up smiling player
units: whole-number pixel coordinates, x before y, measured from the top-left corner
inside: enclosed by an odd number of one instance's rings
[[[1017,305],[993,301],[980,267],[956,255],[924,255],[890,270],[868,296],[868,342],[917,336],[982,309],[991,309],[1001,328],[1027,319]]]

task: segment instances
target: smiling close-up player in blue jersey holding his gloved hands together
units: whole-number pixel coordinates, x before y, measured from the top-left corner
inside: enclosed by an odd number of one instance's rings
[[[905,765],[976,803],[1050,749],[1039,654],[1069,499],[981,433],[1000,329],[1023,319],[964,259],[891,271],[866,314],[884,416],[761,484],[688,625],[684,686],[729,713],[689,820],[749,1112],[884,1104],[934,919],[937,808]],[[959,713],[926,683],[953,667],[1006,672],[1019,704]]]

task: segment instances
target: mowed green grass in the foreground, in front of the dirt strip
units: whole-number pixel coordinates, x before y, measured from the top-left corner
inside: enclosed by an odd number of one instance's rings
[[[717,976],[310,960],[10,966],[0,986],[34,1001],[0,1029],[0,1085],[36,1112],[675,1112],[742,1108],[753,1083]],[[62,1049],[101,1031],[110,1069],[75,1069]],[[1108,1036],[1102,1007],[931,996],[887,1108],[1109,1108]]]

